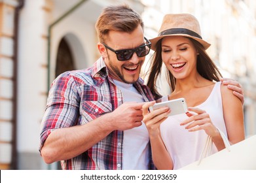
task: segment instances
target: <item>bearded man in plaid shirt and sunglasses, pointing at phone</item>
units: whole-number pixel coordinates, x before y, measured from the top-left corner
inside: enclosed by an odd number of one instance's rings
[[[154,100],[139,78],[151,47],[143,21],[126,5],[107,7],[96,30],[101,58],[52,83],[41,156],[46,163],[61,160],[62,169],[154,169],[149,135],[141,122],[143,103]],[[234,88],[244,100],[241,88]]]

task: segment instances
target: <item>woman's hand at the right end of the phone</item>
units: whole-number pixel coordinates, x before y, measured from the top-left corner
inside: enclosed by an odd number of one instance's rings
[[[215,125],[212,124],[209,114],[196,107],[189,107],[187,112],[187,120],[183,121],[180,125],[186,125],[185,129],[189,131],[204,130],[210,137],[219,135],[219,131]]]

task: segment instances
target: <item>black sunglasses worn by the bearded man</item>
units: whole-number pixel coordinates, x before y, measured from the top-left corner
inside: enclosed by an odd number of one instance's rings
[[[113,48],[107,46],[106,44],[102,43],[107,49],[111,50],[112,52],[115,52],[117,54],[117,59],[119,61],[126,61],[128,59],[131,59],[134,55],[134,52],[136,52],[138,57],[145,57],[147,54],[149,54],[150,48],[151,48],[151,42],[145,38],[146,44],[139,46],[134,49],[123,49],[123,50],[114,50]]]

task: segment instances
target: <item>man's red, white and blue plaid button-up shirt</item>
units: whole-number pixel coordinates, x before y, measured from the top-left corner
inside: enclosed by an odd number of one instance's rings
[[[145,101],[153,100],[141,78],[134,86]],[[54,129],[86,124],[121,104],[122,93],[108,76],[102,58],[88,69],[63,73],[50,88],[39,151]],[[122,140],[123,131],[113,131],[81,155],[62,161],[62,169],[122,169],[122,146],[118,145]],[[149,154],[149,169],[155,169]]]

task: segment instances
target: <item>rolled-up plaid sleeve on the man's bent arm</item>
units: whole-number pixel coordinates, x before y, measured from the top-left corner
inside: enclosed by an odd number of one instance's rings
[[[77,82],[69,73],[58,76],[52,82],[41,122],[39,152],[52,131],[77,125],[80,103],[77,88]]]

